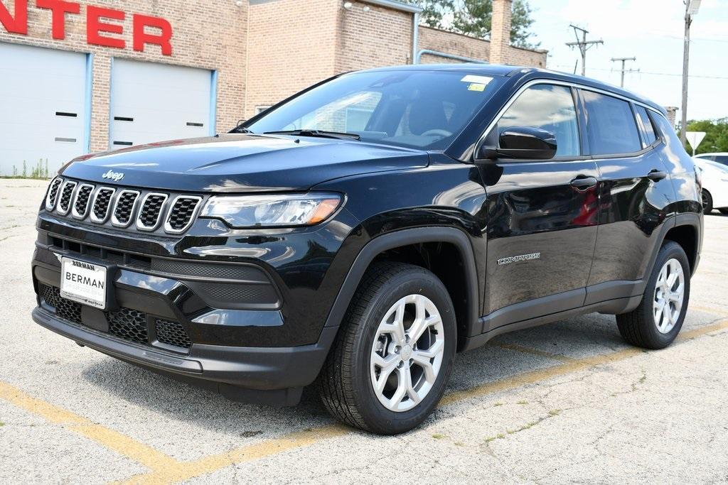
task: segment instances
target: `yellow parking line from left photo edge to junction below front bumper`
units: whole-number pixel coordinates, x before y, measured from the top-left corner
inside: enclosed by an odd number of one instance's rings
[[[129,460],[141,463],[151,470],[163,470],[177,464],[176,460],[150,446],[134,441],[132,438],[122,435],[122,433],[105,428],[66,409],[33,398],[22,390],[1,381],[0,398],[28,412],[38,414],[74,433],[96,441],[98,444],[114,450]]]

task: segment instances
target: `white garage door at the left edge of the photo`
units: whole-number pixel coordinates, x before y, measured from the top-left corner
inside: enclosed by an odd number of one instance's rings
[[[53,175],[88,151],[87,55],[0,43],[0,175]]]

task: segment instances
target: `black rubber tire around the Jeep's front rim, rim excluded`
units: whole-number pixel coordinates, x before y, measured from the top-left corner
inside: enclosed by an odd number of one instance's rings
[[[392,305],[408,294],[422,294],[432,300],[440,312],[445,331],[445,349],[438,379],[422,402],[405,412],[393,412],[385,408],[377,398],[371,385],[371,348],[381,319]],[[416,427],[424,421],[437,406],[448,382],[456,353],[456,320],[450,296],[437,277],[426,270],[402,273],[379,289],[364,314],[362,332],[357,335],[352,351],[356,369],[354,389],[357,408],[373,430],[382,434],[396,434]]]

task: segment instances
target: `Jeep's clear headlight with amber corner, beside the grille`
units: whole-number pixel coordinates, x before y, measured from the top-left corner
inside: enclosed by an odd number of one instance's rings
[[[321,223],[339,205],[336,193],[213,196],[201,217],[217,217],[232,228],[280,228]]]

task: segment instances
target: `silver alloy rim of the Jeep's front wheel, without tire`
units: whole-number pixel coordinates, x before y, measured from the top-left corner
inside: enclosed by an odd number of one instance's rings
[[[371,349],[371,384],[379,402],[408,411],[430,393],[445,350],[443,321],[435,303],[410,294],[382,318]]]

